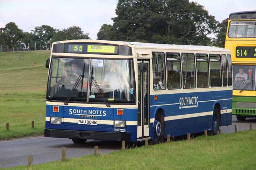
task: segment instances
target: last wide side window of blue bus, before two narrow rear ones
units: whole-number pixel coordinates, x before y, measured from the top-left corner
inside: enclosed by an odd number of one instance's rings
[[[219,54],[210,54],[211,87],[222,86],[221,59]]]

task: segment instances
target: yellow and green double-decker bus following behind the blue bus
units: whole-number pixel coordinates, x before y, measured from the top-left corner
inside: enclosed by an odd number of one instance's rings
[[[232,54],[232,114],[239,121],[256,117],[256,11],[229,15],[225,48]]]

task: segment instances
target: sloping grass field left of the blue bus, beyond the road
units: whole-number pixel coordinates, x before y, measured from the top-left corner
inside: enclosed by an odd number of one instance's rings
[[[43,134],[48,57],[50,51],[0,53],[0,140]]]

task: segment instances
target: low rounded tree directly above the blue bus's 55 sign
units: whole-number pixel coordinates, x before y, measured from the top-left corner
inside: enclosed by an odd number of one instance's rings
[[[70,26],[67,29],[58,30],[52,38],[52,42],[73,39],[90,39],[89,34],[82,31],[79,26]]]

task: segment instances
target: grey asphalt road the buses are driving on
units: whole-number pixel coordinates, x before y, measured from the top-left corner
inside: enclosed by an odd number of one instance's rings
[[[238,131],[248,130],[249,123],[256,129],[256,118],[246,118],[246,121],[237,121],[232,116],[232,125],[222,126],[222,133],[233,133],[235,125]],[[0,142],[0,168],[9,168],[17,165],[27,165],[28,156],[33,155],[33,164],[61,160],[61,148],[66,147],[66,157],[80,157],[94,153],[94,146],[99,146],[99,153],[110,153],[121,148],[120,142],[87,140],[83,145],[73,144],[70,139],[63,138],[26,138]]]

